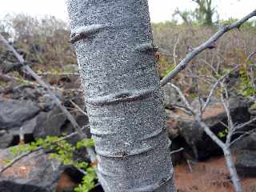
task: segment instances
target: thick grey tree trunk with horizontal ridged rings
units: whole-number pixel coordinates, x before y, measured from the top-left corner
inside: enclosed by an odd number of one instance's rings
[[[173,192],[147,1],[67,6],[104,190]]]

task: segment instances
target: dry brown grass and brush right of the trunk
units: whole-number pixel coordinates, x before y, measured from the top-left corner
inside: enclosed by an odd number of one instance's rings
[[[154,25],[154,42],[162,51],[162,58],[159,62],[159,74],[185,58],[191,48],[199,46],[210,38],[218,27],[206,26],[173,26]],[[241,64],[246,65],[247,56],[256,50],[256,30],[242,28],[241,31],[234,30],[225,34],[219,41],[218,47],[214,50],[206,50],[199,54],[186,70],[182,71],[175,78],[175,83],[187,94],[206,94],[203,90],[209,90],[210,84],[207,77],[213,76],[214,70],[219,74],[225,70]],[[176,49],[174,49],[176,45]],[[175,59],[173,54],[177,56]],[[214,69],[214,70],[213,70]]]

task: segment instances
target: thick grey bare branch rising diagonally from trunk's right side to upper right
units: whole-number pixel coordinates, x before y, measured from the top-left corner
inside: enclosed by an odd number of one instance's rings
[[[161,81],[161,86],[166,85],[167,82],[170,82],[170,80],[174,77],[177,76],[177,74],[179,72],[181,72],[182,70],[184,70],[186,68],[186,66],[188,65],[188,63],[198,54],[200,54],[203,50],[206,49],[210,49],[212,48],[215,43],[218,41],[218,38],[221,38],[223,34],[226,34],[226,32],[233,30],[233,29],[239,29],[240,26],[242,26],[242,24],[244,22],[246,22],[247,20],[249,20],[250,18],[253,18],[254,16],[256,16],[256,10],[254,10],[253,12],[251,12],[250,14],[246,15],[246,17],[238,20],[238,22],[234,22],[233,24],[231,24],[230,26],[222,26],[222,28],[220,30],[218,30],[218,32],[216,34],[214,34],[214,36],[212,36],[211,38],[209,38],[206,42],[204,42],[201,46],[198,46],[196,48],[194,48],[194,50],[190,51],[189,54],[186,55],[186,58],[184,58],[182,60],[182,62],[180,62],[178,64],[178,66],[176,66],[174,68],[174,70],[172,70],[170,72],[170,74],[167,74],[165,78],[162,79]]]

